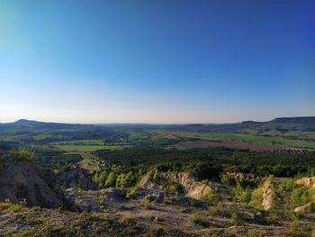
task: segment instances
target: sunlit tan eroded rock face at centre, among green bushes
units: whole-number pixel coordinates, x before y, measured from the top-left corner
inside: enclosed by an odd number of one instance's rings
[[[183,187],[184,194],[186,196],[194,199],[201,199],[203,196],[206,196],[211,192],[211,187],[203,184],[202,182],[195,181],[193,175],[190,173],[161,172],[157,173],[157,178],[174,180]],[[154,182],[153,175],[151,173],[141,180],[140,187],[145,189],[163,189]]]

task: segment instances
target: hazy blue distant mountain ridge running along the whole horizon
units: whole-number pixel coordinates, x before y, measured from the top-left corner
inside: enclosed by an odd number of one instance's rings
[[[315,132],[315,116],[279,117],[267,122],[243,121],[240,123],[191,123],[191,124],[144,124],[144,123],[47,123],[20,119],[14,123],[0,123],[0,131],[16,130],[172,130],[187,132],[239,132],[246,129],[275,129],[279,131],[307,131]]]

